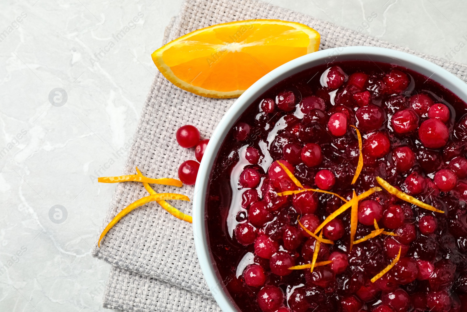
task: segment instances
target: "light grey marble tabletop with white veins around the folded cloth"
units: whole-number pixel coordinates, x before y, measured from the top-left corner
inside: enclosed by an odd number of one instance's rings
[[[121,173],[181,2],[1,1],[0,311],[104,311],[91,247],[115,185],[94,177]],[[467,63],[463,0],[271,3]]]

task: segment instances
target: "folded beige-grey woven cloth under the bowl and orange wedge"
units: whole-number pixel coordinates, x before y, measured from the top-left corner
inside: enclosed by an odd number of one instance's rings
[[[255,0],[187,0],[165,41],[213,24],[255,18],[301,22],[321,34],[320,49],[349,45],[378,46],[406,51],[438,64],[467,81],[467,65],[410,51]],[[123,174],[138,166],[151,177],[177,177],[177,168],[194,159],[194,152],[177,145],[175,133],[193,124],[209,138],[234,99],[210,99],[183,91],[156,74],[134,136]],[[158,186],[157,192],[177,191],[193,198],[193,187]],[[129,203],[146,196],[141,183],[120,183],[102,229]],[[191,203],[174,205],[191,214]],[[93,255],[113,264],[104,307],[122,311],[219,311],[203,278],[194,249],[191,224],[172,217],[156,203],[132,211],[106,235]]]

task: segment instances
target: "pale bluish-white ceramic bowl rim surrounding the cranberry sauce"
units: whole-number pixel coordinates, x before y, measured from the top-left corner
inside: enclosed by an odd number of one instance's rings
[[[220,145],[243,111],[261,94],[273,87],[276,81],[284,80],[295,73],[317,65],[344,60],[371,60],[409,68],[439,82],[439,84],[451,90],[464,102],[467,102],[467,85],[465,82],[438,65],[405,52],[365,46],[333,48],[304,55],[277,67],[249,87],[233,103],[232,107],[226,112],[226,115],[220,120],[214,130],[199,167],[193,198],[193,234],[199,264],[201,265],[209,289],[223,312],[237,312],[237,309],[224,291],[221,283],[219,283],[219,279],[214,271],[205,231],[205,195],[209,175]]]

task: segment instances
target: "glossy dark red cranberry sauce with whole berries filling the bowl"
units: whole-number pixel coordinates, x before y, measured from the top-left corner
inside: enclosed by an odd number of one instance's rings
[[[467,311],[467,105],[427,77],[366,61],[318,66],[279,82],[253,102],[212,168],[206,231],[214,268],[243,312]],[[363,170],[351,184],[362,135]],[[311,232],[344,202],[378,186],[376,176],[443,210],[386,191],[360,201],[350,250],[350,209],[323,228],[310,269]],[[381,278],[370,279],[396,258]],[[461,310],[462,309],[462,310]]]

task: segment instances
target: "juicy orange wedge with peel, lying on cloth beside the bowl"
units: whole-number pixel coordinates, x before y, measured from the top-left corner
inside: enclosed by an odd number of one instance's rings
[[[195,30],[152,54],[159,71],[194,94],[231,98],[274,68],[318,51],[318,32],[280,20],[229,22]]]

